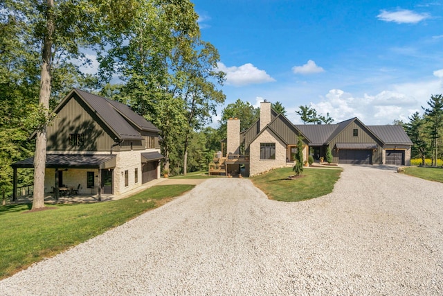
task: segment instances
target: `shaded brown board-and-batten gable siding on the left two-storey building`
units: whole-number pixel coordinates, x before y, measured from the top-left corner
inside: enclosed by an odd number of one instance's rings
[[[48,151],[109,152],[114,134],[77,96],[72,96],[48,125]],[[70,146],[69,134],[83,133],[83,146]],[[114,147],[118,150],[118,147]]]

